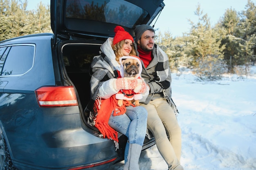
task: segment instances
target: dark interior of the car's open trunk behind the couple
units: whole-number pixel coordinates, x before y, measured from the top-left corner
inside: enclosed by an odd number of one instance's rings
[[[62,48],[63,60],[67,75],[76,88],[83,110],[85,110],[90,100],[90,64],[93,57],[99,55],[100,46],[101,44],[93,43],[68,43]],[[90,126],[87,123],[88,117],[89,113],[85,110],[83,112],[83,119],[85,125],[87,126],[86,130],[96,136],[100,135],[97,128]],[[155,144],[153,134],[148,131],[148,135],[149,137],[146,137],[144,140],[143,150]],[[127,138],[122,135],[119,141],[122,140],[125,141]],[[120,142],[120,144],[121,146],[119,147],[124,148],[126,142]],[[122,149],[119,150],[119,152],[123,151],[124,150]]]

